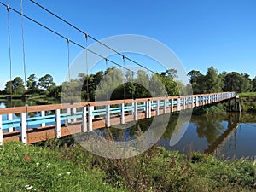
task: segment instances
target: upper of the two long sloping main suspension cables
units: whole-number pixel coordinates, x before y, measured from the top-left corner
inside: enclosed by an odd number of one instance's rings
[[[66,23],[68,26],[72,26],[72,27],[73,27],[75,30],[77,30],[78,32],[81,32],[81,33],[83,33],[84,35],[87,34],[86,32],[84,32],[84,31],[82,31],[81,29],[79,29],[79,27],[74,26],[72,23],[68,22],[67,20],[62,19],[60,16],[55,15],[55,13],[53,13],[53,12],[50,11],[49,9],[44,8],[44,6],[42,6],[41,4],[36,3],[36,2],[33,1],[33,0],[30,0],[30,1],[31,1],[32,3],[34,3],[34,4],[36,4],[39,8],[44,9],[44,10],[45,10],[46,12],[48,12],[50,15],[53,15],[53,16],[55,16],[57,19],[63,21],[63,22]],[[122,57],[125,56],[125,55],[119,53],[119,51],[117,51],[117,50],[115,50],[115,49],[109,47],[107,44],[103,44],[103,43],[102,43],[101,41],[99,41],[98,39],[93,38],[93,37],[90,36],[90,35],[88,35],[88,37],[91,38],[92,40],[96,41],[97,43],[102,44],[104,47],[106,47],[106,48],[112,50],[112,51],[115,52],[117,55],[120,55],[120,56],[122,56]],[[132,59],[129,58],[129,57],[126,57],[126,56],[125,56],[125,58],[126,58],[128,61],[131,61],[131,62],[137,64],[138,66],[143,67],[144,69],[148,69],[148,70],[149,70],[150,72],[152,72],[152,73],[155,73],[154,71],[150,70],[148,67],[144,67],[142,64],[138,63],[137,61],[132,60]],[[156,74],[156,73],[155,73],[155,74]]]

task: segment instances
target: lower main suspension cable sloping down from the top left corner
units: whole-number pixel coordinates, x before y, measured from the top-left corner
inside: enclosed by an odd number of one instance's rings
[[[5,3],[2,3],[0,2],[0,4],[2,4],[3,6],[7,7],[8,5],[6,5]],[[19,11],[17,11],[16,9],[13,9],[11,7],[9,7],[9,9],[11,9],[12,11],[14,11],[16,14],[18,15],[21,15],[21,13]],[[43,24],[39,23],[37,20],[33,20],[31,17],[29,16],[26,16],[26,15],[22,15],[23,17],[25,17],[27,20],[31,20],[32,22],[36,23],[38,26],[42,26],[44,29],[48,30],[49,32],[53,32],[55,35],[59,36],[60,38],[64,38],[64,39],[68,39],[67,37],[65,37],[64,35],[61,35],[61,33],[59,32],[55,32],[53,29],[50,29],[48,26],[44,26]],[[89,35],[88,35],[89,37]],[[83,45],[79,44],[79,43],[76,43],[75,41],[69,39],[69,42],[72,43],[72,44],[75,44],[76,46],[82,48],[82,49],[85,49],[87,51],[89,51],[90,53],[94,54],[94,55],[97,55],[98,57],[102,58],[103,60],[106,59],[106,57],[100,55],[100,54],[97,54],[96,52],[94,52],[93,50],[90,50],[86,47],[84,47]],[[120,65],[119,63],[115,62],[115,61],[112,61],[112,60],[108,60],[109,62],[113,63],[114,65],[116,66],[119,66],[119,67],[123,67],[122,65]],[[126,68],[125,67],[125,70],[129,70],[129,71],[132,71],[131,69],[129,68]],[[134,72],[134,73],[137,73],[137,72]]]

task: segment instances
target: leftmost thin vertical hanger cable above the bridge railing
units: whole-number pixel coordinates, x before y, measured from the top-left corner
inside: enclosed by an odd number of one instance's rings
[[[12,56],[11,56],[11,37],[10,37],[10,20],[9,20],[9,5],[6,7],[7,10],[7,29],[8,29],[8,42],[9,42],[9,96],[10,104],[12,107],[12,92],[13,92],[13,82],[12,82]]]

